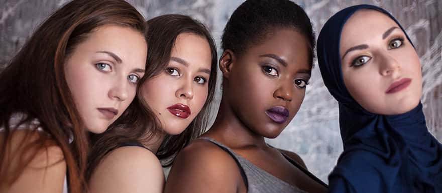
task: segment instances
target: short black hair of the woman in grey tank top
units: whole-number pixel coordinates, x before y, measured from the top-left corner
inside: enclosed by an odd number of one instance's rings
[[[305,36],[313,65],[315,34],[310,18],[299,5],[289,0],[247,0],[232,14],[222,36],[223,50],[244,54],[253,44],[262,42],[274,28],[292,28]]]

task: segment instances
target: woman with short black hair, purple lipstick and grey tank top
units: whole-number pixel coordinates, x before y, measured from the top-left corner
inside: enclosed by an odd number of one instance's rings
[[[222,48],[216,121],[177,156],[165,192],[325,192],[297,154],[264,140],[293,119],[310,79],[314,34],[304,10],[288,0],[245,1]]]

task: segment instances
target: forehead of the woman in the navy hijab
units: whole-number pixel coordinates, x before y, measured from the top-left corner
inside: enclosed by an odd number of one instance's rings
[[[382,39],[389,28],[399,27],[389,16],[373,9],[356,11],[344,24],[341,44],[367,43],[372,38]]]

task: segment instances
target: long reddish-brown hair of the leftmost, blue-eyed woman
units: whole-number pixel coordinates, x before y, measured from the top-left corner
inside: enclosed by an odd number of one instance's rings
[[[85,190],[89,142],[65,79],[64,63],[88,34],[103,25],[132,28],[144,36],[147,30],[144,17],[123,0],[74,0],[42,23],[0,74],[0,127],[4,128],[5,136],[0,144],[0,179],[3,182],[16,181],[33,156],[47,148],[50,140],[63,151],[69,192]],[[33,156],[20,159],[19,167],[10,172],[7,168],[11,159],[5,157],[24,157],[7,150],[18,127],[10,125],[9,120],[17,113],[26,115],[20,124],[37,119],[40,124],[33,131],[40,127],[49,137],[41,135],[26,148],[21,147]],[[72,137],[73,142],[69,144]]]

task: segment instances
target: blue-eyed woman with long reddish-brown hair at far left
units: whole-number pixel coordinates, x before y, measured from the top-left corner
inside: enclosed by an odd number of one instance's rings
[[[0,192],[86,191],[86,133],[135,97],[145,33],[120,0],[74,0],[39,26],[0,73]]]

